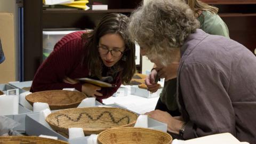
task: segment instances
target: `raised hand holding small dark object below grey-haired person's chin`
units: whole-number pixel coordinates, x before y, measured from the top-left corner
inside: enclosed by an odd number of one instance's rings
[[[157,75],[156,69],[153,69],[149,75],[145,78],[145,84],[150,92],[156,92],[159,89],[159,84],[155,83],[155,78]]]

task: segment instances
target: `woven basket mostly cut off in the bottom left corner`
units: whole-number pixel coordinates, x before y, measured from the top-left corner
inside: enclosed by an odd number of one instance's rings
[[[54,140],[48,138],[34,137],[34,136],[19,136],[19,137],[0,137],[0,143],[4,144],[68,144],[68,142],[61,140]]]

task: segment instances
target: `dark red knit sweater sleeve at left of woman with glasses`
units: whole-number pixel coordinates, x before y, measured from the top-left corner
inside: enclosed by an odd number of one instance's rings
[[[81,62],[83,47],[81,34],[81,31],[71,33],[55,44],[53,52],[38,68],[31,85],[31,92],[73,87],[81,91],[82,84],[63,82],[63,78],[68,76]]]

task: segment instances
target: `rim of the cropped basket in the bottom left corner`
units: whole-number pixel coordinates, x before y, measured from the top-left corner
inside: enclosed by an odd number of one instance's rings
[[[52,142],[57,142],[57,141],[59,141],[60,143],[67,143],[68,144],[68,142],[67,141],[63,141],[63,140],[55,140],[55,139],[51,139],[51,138],[44,138],[44,137],[36,137],[36,136],[33,136],[33,135],[29,135],[29,136],[1,136],[0,137],[0,141],[1,140],[10,140],[10,139],[13,139],[13,138],[16,138],[16,139],[20,139],[20,140],[22,140],[22,139],[24,139],[24,140],[27,140],[27,139],[44,139],[45,140],[45,142],[47,142],[47,141],[52,141]]]

